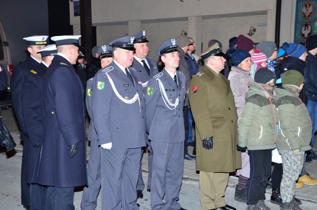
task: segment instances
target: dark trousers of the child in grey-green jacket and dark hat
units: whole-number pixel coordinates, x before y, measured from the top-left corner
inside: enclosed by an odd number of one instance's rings
[[[248,150],[250,157],[250,179],[248,182],[249,205],[256,205],[265,200],[265,190],[271,175],[272,150]]]

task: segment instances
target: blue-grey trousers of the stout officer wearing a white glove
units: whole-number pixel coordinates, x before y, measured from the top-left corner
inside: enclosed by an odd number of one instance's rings
[[[102,210],[139,210],[137,182],[141,148],[101,149]]]

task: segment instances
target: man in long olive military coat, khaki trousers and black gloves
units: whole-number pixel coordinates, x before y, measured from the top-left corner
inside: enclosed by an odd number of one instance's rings
[[[235,210],[223,197],[229,173],[241,168],[241,153],[236,150],[238,115],[229,80],[219,73],[224,68],[223,56],[217,43],[203,52],[204,67],[189,87],[203,210]]]

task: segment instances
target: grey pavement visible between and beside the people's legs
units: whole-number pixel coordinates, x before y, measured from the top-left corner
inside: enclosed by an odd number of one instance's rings
[[[21,192],[20,192],[20,173],[22,160],[22,142],[19,140],[18,125],[14,118],[13,109],[9,107],[2,110],[2,121],[7,126],[14,141],[17,143],[13,151],[5,152],[0,148],[0,210],[23,210],[21,206]],[[88,131],[89,123],[86,123]],[[89,146],[87,144],[87,159],[89,157]],[[192,154],[193,147],[188,148],[189,154]],[[314,151],[317,153],[317,146]],[[179,203],[182,208],[187,210],[201,210],[202,207],[199,201],[199,174],[196,172],[196,162],[192,160],[184,160],[183,182],[180,190]],[[145,184],[148,177],[148,154],[144,153],[142,159],[142,171]],[[311,177],[317,178],[317,160],[312,163],[306,163],[306,171],[310,173]],[[235,207],[237,210],[245,210],[247,205],[242,202],[234,200],[235,185],[238,179],[234,176],[229,177],[228,186],[225,192],[225,200],[227,204]],[[143,191],[143,199],[138,199],[140,210],[151,210],[150,193]],[[82,188],[76,188],[74,193],[75,210],[80,210],[80,202],[82,196]],[[265,204],[271,210],[280,210],[280,207],[269,202],[271,196],[271,189],[266,190]],[[302,188],[296,189],[296,198],[302,200],[303,204],[300,206],[303,210],[317,210],[317,185],[304,185]],[[101,197],[99,195],[98,206],[96,210],[101,210]]]

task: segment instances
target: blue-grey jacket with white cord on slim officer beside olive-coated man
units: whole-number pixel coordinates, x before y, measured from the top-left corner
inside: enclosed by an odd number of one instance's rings
[[[180,71],[176,71],[176,75],[178,88],[165,68],[148,82],[145,100],[147,132],[151,141],[177,143],[185,140],[183,106],[186,78]]]

